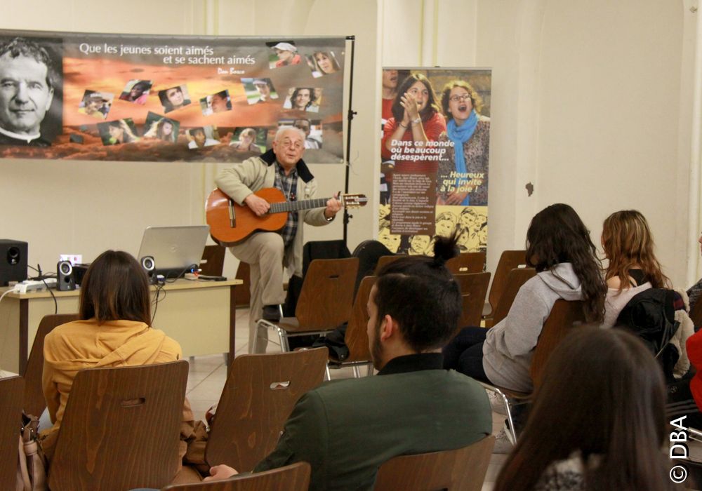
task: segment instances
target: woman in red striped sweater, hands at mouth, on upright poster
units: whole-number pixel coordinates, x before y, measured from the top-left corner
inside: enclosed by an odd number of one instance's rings
[[[445,130],[432,84],[422,74],[410,74],[397,90],[392,118],[383,128],[381,155],[395,160],[395,170],[435,171],[436,161],[423,152]]]

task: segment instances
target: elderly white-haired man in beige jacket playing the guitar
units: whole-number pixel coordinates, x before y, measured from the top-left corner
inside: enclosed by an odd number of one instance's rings
[[[302,159],[304,152],[305,133],[284,126],[276,133],[272,149],[223,170],[215,182],[235,203],[263,217],[270,203],[254,194],[260,189],[277,188],[286,201],[314,196],[317,181]],[[291,211],[281,230],[259,231],[230,248],[234,256],[251,265],[249,353],[253,352],[256,321],[259,318],[278,321],[281,316],[279,305],[285,300],[283,266],[296,276],[302,276],[303,222],[326,225],[340,208],[340,202],[331,198],[326,201],[326,208]],[[257,351],[265,352],[266,344],[265,339],[259,339]]]

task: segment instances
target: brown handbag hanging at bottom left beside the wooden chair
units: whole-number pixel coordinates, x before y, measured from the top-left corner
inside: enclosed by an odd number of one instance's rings
[[[46,458],[39,445],[39,418],[22,414],[16,491],[48,491]]]

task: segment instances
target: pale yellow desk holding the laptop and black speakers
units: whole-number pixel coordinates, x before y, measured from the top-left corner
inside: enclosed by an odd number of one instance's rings
[[[241,280],[189,281],[168,283],[159,295],[154,328],[176,339],[183,356],[230,354],[234,359],[234,328],[237,314],[234,286]],[[0,288],[0,295],[8,288]],[[59,314],[78,311],[79,290],[52,290]],[[156,291],[152,287],[152,296]],[[154,313],[152,304],[152,315]],[[8,293],[0,302],[0,368],[23,373],[39,321],[54,313],[51,293]]]

